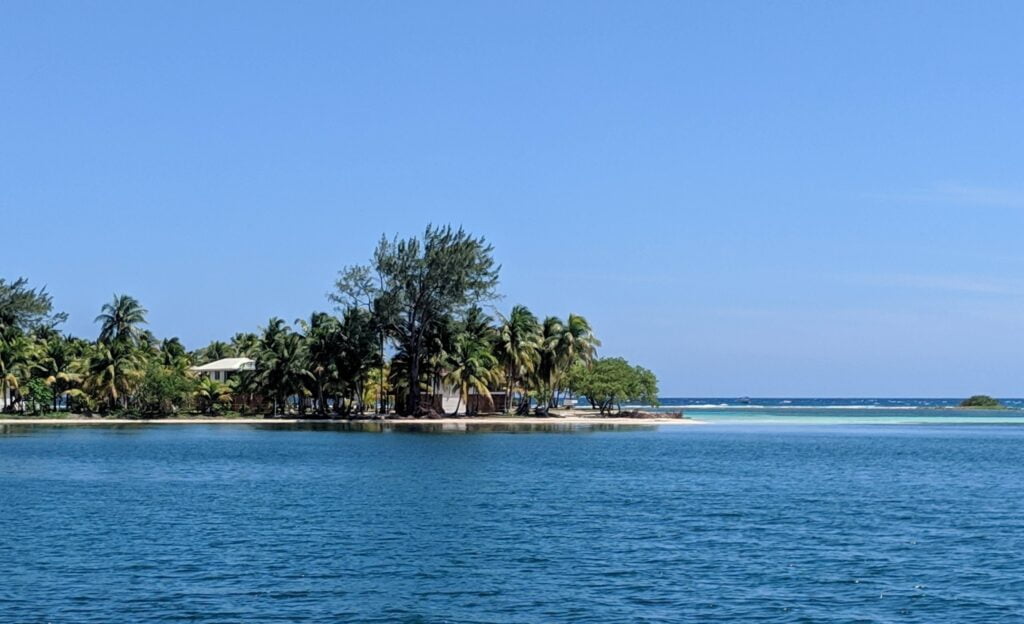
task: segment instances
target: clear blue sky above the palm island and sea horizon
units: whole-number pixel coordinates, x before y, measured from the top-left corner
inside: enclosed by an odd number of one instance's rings
[[[189,346],[485,235],[684,396],[1024,394],[1024,7],[4,2],[0,276]]]

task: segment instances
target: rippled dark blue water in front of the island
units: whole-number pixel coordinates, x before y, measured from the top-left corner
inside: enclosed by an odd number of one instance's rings
[[[7,427],[0,622],[1020,622],[1024,427]]]

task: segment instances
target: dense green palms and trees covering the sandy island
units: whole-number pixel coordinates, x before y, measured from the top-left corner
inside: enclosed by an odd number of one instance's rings
[[[656,379],[623,360],[596,360],[600,341],[570,314],[543,321],[522,305],[486,314],[499,267],[482,238],[452,227],[382,239],[366,265],[340,272],[330,300],[289,325],[270,319],[189,351],[178,338],[145,329],[147,310],[115,295],[96,317],[94,340],[59,331],[45,289],[0,280],[0,398],[8,412],[168,415],[368,411],[424,415],[442,387],[471,397],[504,391],[509,411],[545,412],[575,392],[608,411],[618,402],[653,403]],[[256,361],[226,383],[190,367],[223,358]]]

